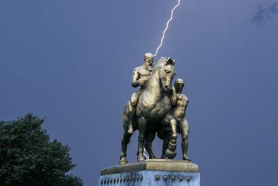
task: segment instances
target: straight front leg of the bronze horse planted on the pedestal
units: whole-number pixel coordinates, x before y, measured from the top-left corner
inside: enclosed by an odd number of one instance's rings
[[[139,127],[139,135],[138,135],[138,151],[137,151],[137,161],[144,161],[145,155],[143,146],[144,146],[144,139],[145,139],[145,132],[147,127],[147,121],[143,116],[138,118],[138,127]]]

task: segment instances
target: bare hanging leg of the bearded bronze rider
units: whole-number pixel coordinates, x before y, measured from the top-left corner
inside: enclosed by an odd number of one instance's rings
[[[133,93],[131,95],[131,100],[129,102],[129,111],[128,111],[128,115],[129,115],[129,129],[128,129],[128,132],[129,132],[129,134],[134,133],[133,121],[134,121],[134,118],[135,118],[135,109],[136,109],[136,105],[138,103],[138,99],[139,99],[141,93],[142,93],[142,91],[136,91],[135,93]]]

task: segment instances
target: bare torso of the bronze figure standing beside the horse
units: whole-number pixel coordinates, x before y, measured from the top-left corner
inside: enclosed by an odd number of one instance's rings
[[[172,116],[174,117],[174,119],[180,122],[183,118],[186,117],[186,107],[189,100],[186,95],[183,95],[182,93],[177,93],[177,95],[181,97],[181,100],[179,100],[178,98],[177,104],[172,107]]]

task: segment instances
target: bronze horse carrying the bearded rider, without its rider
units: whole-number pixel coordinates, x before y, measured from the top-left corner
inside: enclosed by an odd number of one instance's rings
[[[177,126],[174,125],[174,119],[170,114],[171,100],[169,93],[172,91],[172,80],[176,74],[174,69],[175,61],[170,57],[162,57],[156,62],[152,75],[149,77],[147,87],[140,95],[136,106],[136,117],[133,122],[133,128],[139,130],[138,136],[138,162],[145,160],[143,155],[145,146],[149,153],[149,159],[157,159],[152,148],[156,132],[161,125],[171,125],[172,141],[169,142],[166,156],[173,158],[176,153]],[[129,144],[132,134],[128,133],[129,115],[128,107],[130,101],[126,103],[122,116],[124,134],[122,136],[122,152],[120,155],[120,164],[127,163],[126,146]]]

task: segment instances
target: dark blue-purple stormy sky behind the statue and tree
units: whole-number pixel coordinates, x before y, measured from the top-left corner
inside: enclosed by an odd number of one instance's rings
[[[72,173],[97,185],[119,161],[133,68],[155,52],[176,3],[0,1],[0,120],[45,117],[51,139],[72,147]],[[155,61],[172,56],[186,82],[188,156],[202,185],[277,185],[277,3],[181,0],[174,12]],[[136,150],[137,134],[129,162]]]

